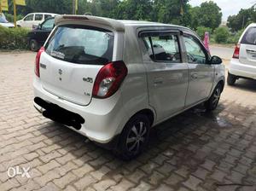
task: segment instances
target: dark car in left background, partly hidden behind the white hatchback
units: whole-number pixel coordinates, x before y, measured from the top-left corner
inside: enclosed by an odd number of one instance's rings
[[[39,24],[39,26],[32,30],[32,32],[28,33],[28,44],[32,51],[38,51],[38,49],[43,46],[54,26],[55,18],[50,17],[49,19],[44,20],[42,24]]]

